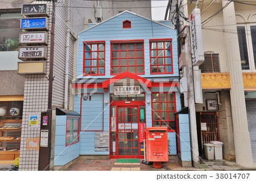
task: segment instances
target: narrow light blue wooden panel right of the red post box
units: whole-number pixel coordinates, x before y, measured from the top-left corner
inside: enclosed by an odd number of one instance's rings
[[[179,115],[181,161],[191,161],[191,146],[188,114]]]

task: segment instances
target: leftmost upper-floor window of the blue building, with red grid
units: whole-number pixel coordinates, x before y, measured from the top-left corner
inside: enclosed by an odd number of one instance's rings
[[[84,42],[84,75],[105,75],[105,42]]]

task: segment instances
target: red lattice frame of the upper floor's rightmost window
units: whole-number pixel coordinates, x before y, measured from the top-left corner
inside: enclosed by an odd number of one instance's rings
[[[170,42],[170,48],[166,48],[165,45],[163,48],[158,48],[157,43],[165,43],[165,42]],[[156,43],[156,48],[151,47],[151,43]],[[157,54],[156,56],[151,55],[151,51],[156,50]],[[158,50],[164,50],[163,56],[158,56]],[[171,56],[166,56],[166,51],[165,50],[170,50]],[[152,64],[152,58],[156,58],[157,64]],[[158,58],[163,58],[163,64],[158,64]],[[171,64],[166,64],[166,58],[171,58]],[[152,66],[156,66],[156,73],[152,73]],[[164,72],[159,72],[159,66],[162,66],[164,68]],[[166,67],[171,66],[171,72],[166,72]],[[173,74],[174,73],[174,65],[173,65],[173,60],[172,60],[172,39],[151,39],[150,40],[150,74]]]

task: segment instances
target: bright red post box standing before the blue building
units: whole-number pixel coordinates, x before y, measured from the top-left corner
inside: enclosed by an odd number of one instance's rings
[[[161,162],[168,162],[168,136],[167,128],[146,128],[146,157],[153,162],[154,168],[161,168]]]

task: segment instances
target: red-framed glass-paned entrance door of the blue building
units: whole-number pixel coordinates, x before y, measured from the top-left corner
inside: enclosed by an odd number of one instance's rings
[[[118,158],[139,158],[138,106],[118,107],[117,155]]]

